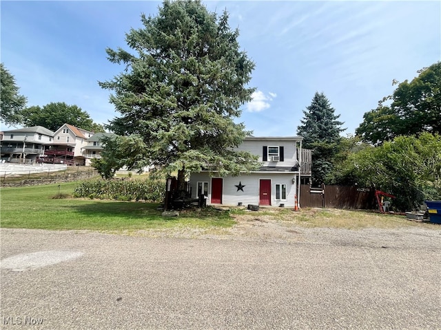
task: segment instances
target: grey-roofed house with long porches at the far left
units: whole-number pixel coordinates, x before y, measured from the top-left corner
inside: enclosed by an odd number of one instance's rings
[[[25,127],[3,132],[1,160],[31,164],[45,153],[53,142],[54,132],[43,126]]]

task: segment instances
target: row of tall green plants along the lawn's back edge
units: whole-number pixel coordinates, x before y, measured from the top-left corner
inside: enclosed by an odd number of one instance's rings
[[[165,183],[153,179],[84,181],[74,190],[74,197],[114,199],[118,201],[163,201]]]

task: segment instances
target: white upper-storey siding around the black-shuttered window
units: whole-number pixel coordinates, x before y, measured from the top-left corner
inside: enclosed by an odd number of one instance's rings
[[[263,146],[283,146],[284,161],[283,162],[263,162]],[[244,140],[238,148],[238,151],[248,151],[259,157],[262,166],[296,166],[296,142],[294,141],[265,141],[265,140]]]

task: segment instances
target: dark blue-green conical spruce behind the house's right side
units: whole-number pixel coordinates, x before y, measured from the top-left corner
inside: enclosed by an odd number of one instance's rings
[[[304,118],[297,127],[297,134],[303,137],[303,147],[312,150],[312,181],[318,186],[332,170],[332,159],[337,153],[340,133],[345,129],[338,121],[340,115],[323,93],[312,98],[311,104],[303,111]]]

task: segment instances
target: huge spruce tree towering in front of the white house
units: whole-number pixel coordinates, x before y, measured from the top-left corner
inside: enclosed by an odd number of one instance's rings
[[[249,133],[234,118],[251,100],[254,89],[246,85],[254,63],[240,51],[227,12],[218,17],[199,0],[166,0],[141,22],[126,34],[134,54],[107,49],[109,61],[125,71],[100,83],[114,91],[110,102],[121,113],[108,127],[133,135],[137,146],[132,153],[139,155],[120,155],[125,165],[178,171],[180,188],[188,171],[234,175],[254,168],[255,157],[232,151]]]

